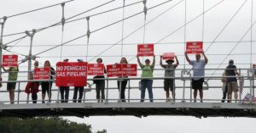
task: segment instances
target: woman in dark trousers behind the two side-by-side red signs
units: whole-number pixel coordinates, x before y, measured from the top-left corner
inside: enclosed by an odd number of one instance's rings
[[[128,64],[126,58],[121,58],[120,64]],[[117,81],[121,102],[125,102],[125,89],[127,86],[127,80],[122,78],[128,78],[128,76],[119,76],[119,80]]]

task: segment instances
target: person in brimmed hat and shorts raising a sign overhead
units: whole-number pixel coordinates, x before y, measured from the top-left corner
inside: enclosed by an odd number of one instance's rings
[[[166,91],[166,102],[171,101],[169,88],[170,88],[170,91],[172,91],[172,99],[173,99],[173,101],[175,101],[174,77],[175,77],[175,69],[177,68],[179,63],[177,60],[177,56],[174,56],[174,57],[176,59],[176,64],[173,64],[174,63],[173,59],[166,59],[166,64],[163,64],[162,63],[163,56],[160,56],[160,66],[165,69],[165,78],[168,78],[168,79],[164,80],[164,89]]]

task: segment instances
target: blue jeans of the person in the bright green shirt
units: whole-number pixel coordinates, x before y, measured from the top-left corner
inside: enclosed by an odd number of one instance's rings
[[[150,100],[150,102],[153,102],[153,91],[152,91],[153,80],[141,80],[141,83],[142,83],[141,102],[144,102],[146,88],[148,88],[149,100]]]

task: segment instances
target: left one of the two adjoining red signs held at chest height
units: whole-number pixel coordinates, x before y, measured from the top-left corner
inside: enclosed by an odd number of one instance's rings
[[[121,64],[109,64],[107,65],[107,76],[122,76]]]

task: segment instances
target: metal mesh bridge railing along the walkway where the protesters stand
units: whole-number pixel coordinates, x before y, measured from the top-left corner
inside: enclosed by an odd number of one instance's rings
[[[255,75],[252,69],[238,69],[240,74],[236,76],[238,83],[238,100],[237,103],[243,103],[245,97],[254,97],[255,96],[255,86],[254,80]],[[192,71],[189,69],[176,69],[175,76],[175,101],[170,101],[171,103],[194,103],[194,91],[191,88],[191,78]],[[215,71],[215,72],[214,72]],[[203,103],[221,103],[223,100],[223,82],[221,79],[223,78],[222,74],[224,69],[205,69],[206,75],[204,76],[205,83],[203,84]],[[214,72],[214,75],[212,75]],[[22,72],[21,72],[22,73]],[[153,80],[153,96],[154,103],[164,103],[166,102],[166,91],[164,91],[164,70],[163,69],[154,69],[154,78],[150,78]],[[7,75],[7,74],[3,74]],[[20,74],[19,74],[20,75]],[[138,75],[140,75],[138,73]],[[4,76],[3,76],[4,77]],[[84,86],[83,98],[81,99],[82,103],[118,103],[122,102],[120,99],[120,92],[117,86],[117,80],[128,80],[126,89],[125,89],[125,102],[126,103],[139,103],[141,101],[141,90],[140,90],[140,77],[129,77],[129,78],[104,78],[98,80],[105,81],[105,89],[104,89],[104,99],[96,99],[96,85],[93,84],[93,78],[89,78],[87,82],[87,86]],[[3,86],[0,89],[0,102],[4,104],[9,104],[9,91],[7,91],[7,83],[8,82],[16,82],[15,87],[15,104],[26,104],[32,103],[32,95],[26,94],[25,88],[28,82],[40,82],[42,81],[52,81],[53,86],[50,90],[51,97],[49,98],[46,95],[46,103],[61,103],[61,93],[59,87],[55,86],[55,80],[17,80],[17,81],[6,81],[3,78],[2,84]],[[70,86],[69,89],[69,97],[68,103],[73,103],[73,90],[74,87]],[[37,93],[38,100],[37,103],[42,103],[42,89],[39,86],[39,91]],[[79,94],[78,94],[79,96]],[[172,93],[170,93],[170,97],[172,97]],[[235,103],[234,94],[233,94],[232,103]],[[100,101],[99,101],[100,100]],[[250,99],[253,100],[253,99]],[[149,102],[148,91],[146,89],[145,92],[145,103]],[[197,96],[196,102],[201,102],[199,98],[199,94]],[[227,102],[227,98],[224,100]],[[253,101],[249,101],[253,103]]]

